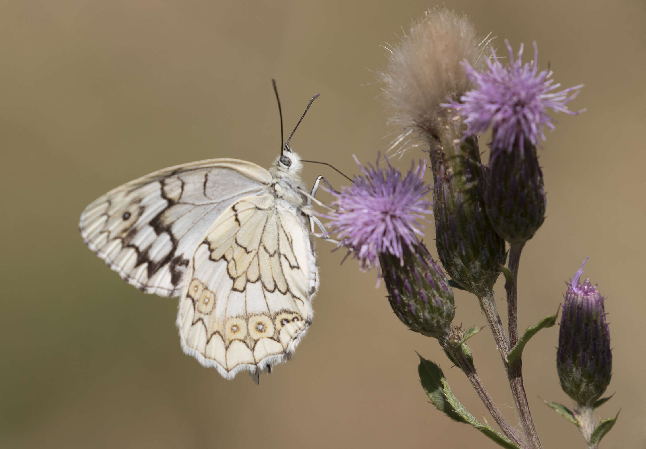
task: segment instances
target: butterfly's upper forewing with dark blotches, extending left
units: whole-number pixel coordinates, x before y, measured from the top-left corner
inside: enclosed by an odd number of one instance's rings
[[[111,190],[85,208],[85,244],[128,283],[178,296],[209,227],[234,201],[271,183],[264,168],[211,159],[165,168]]]

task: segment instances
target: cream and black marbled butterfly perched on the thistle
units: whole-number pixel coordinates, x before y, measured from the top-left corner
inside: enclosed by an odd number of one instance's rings
[[[79,221],[85,244],[121,278],[180,297],[183,351],[225,379],[248,370],[258,383],[312,323],[321,177],[308,194],[289,139],[269,170],[239,159],[164,168],[110,190]]]

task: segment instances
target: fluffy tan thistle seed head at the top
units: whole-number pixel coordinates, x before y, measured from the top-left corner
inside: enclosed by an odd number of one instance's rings
[[[388,47],[388,65],[379,72],[390,123],[404,128],[401,142],[415,129],[427,139],[438,134],[440,103],[473,88],[461,61],[484,67],[483,46],[464,15],[433,8],[415,21],[401,41]],[[395,144],[397,145],[397,144]]]

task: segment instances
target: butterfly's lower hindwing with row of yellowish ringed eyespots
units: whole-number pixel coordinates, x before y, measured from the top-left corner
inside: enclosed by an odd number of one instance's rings
[[[273,195],[227,208],[180,299],[182,349],[226,379],[287,361],[312,321],[318,270],[306,217]]]

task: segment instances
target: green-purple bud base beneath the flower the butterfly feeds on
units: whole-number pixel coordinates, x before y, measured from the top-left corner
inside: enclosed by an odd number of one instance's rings
[[[406,246],[403,263],[386,253],[379,261],[388,301],[402,323],[428,337],[446,334],[455,316],[453,290],[426,246]]]

